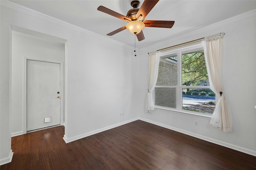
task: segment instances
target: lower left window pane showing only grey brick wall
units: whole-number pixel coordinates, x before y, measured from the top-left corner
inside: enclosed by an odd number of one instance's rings
[[[155,105],[176,108],[176,88],[155,88]]]

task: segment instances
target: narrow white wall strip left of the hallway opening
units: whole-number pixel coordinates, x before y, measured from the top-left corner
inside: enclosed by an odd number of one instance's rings
[[[0,165],[12,160],[10,133],[10,25],[5,25],[6,18],[0,9]],[[6,42],[7,41],[7,42]],[[6,49],[6,50],[3,50]]]

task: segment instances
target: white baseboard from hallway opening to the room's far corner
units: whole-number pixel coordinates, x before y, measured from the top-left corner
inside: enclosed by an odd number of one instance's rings
[[[121,126],[121,125],[125,125],[127,123],[130,123],[130,122],[133,122],[133,121],[136,121],[138,120],[138,118],[134,118],[134,119],[130,119],[128,121],[123,121],[121,123],[117,123],[115,125],[110,125],[108,127],[103,127],[101,129],[97,129],[95,131],[91,131],[91,132],[88,132],[88,133],[84,133],[82,135],[78,135],[78,136],[75,136],[75,137],[71,137],[71,138],[67,138],[66,135],[64,135],[63,137],[63,140],[66,142],[66,143],[70,143],[70,142],[73,142],[73,141],[76,141],[78,139],[82,139],[84,137],[88,137],[90,135],[94,135],[96,133],[100,133],[100,132],[103,132],[103,131],[106,131],[106,130],[109,130],[109,129],[112,129],[112,128],[115,128],[115,127],[118,127],[118,126]]]

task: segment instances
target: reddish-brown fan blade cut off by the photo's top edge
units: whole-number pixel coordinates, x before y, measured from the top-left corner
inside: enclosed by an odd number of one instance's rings
[[[159,0],[145,0],[137,12],[136,18],[139,18],[140,16],[142,16],[140,18],[140,21],[144,20],[145,17],[148,15],[148,13],[152,10],[152,8],[156,5],[158,1]]]

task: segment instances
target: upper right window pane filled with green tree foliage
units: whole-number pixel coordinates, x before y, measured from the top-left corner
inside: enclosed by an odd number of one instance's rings
[[[209,86],[204,51],[182,53],[182,85]]]

